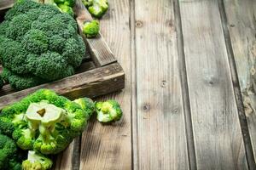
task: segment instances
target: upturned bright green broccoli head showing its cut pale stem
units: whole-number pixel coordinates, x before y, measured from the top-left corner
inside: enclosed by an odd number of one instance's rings
[[[23,150],[57,154],[84,131],[93,111],[90,99],[71,101],[49,89],[40,89],[3,108],[0,130]]]

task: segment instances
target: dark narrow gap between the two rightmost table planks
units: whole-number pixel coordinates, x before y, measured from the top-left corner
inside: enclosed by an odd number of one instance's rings
[[[226,43],[228,59],[230,62],[230,73],[231,73],[231,78],[233,83],[234,94],[236,97],[236,105],[237,105],[237,111],[239,114],[239,120],[241,124],[240,126],[241,133],[242,133],[244,146],[246,150],[247,163],[248,163],[249,169],[256,169],[256,164],[253,156],[253,147],[252,147],[251,138],[250,138],[250,134],[247,126],[247,117],[244,110],[243,100],[241,96],[241,88],[240,88],[238,75],[237,75],[235,56],[234,56],[232,44],[230,41],[230,31],[227,26],[227,15],[224,8],[224,0],[218,0],[218,8],[220,11],[222,27],[224,31],[224,39]]]

